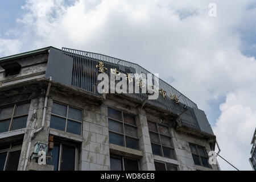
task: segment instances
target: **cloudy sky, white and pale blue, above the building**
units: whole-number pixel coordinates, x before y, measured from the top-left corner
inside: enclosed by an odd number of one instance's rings
[[[208,15],[216,3],[217,16]],[[249,164],[256,126],[256,1],[2,0],[0,57],[69,47],[140,64],[205,110],[221,155]],[[233,170],[218,159],[222,170]]]

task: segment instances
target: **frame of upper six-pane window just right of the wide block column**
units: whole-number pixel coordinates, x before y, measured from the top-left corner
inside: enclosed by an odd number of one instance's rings
[[[120,111],[120,112],[122,113],[122,121],[119,121],[119,120],[117,120],[117,119],[110,118],[110,117],[109,117],[109,112],[108,112],[108,122],[109,122],[109,119],[111,119],[111,120],[113,120],[113,121],[115,121],[115,122],[122,123],[122,130],[123,130],[123,133],[119,133],[119,132],[117,132],[117,131],[110,130],[109,127],[108,127],[109,132],[114,133],[114,134],[117,134],[117,135],[122,135],[122,136],[123,136],[123,146],[122,146],[122,147],[125,147],[125,148],[129,148],[129,147],[126,147],[126,137],[130,137],[130,138],[133,138],[133,139],[137,139],[137,140],[138,140],[138,144],[139,144],[139,149],[138,149],[138,150],[140,151],[140,150],[141,150],[141,143],[140,143],[140,140],[139,140],[137,115],[135,115],[135,114],[130,114],[130,113],[124,112],[124,111],[119,110],[119,109],[115,109],[114,107],[109,107],[109,106],[108,106],[108,108],[114,109],[114,110],[117,110],[117,111]],[[125,121],[123,121],[123,113],[129,114],[129,115],[133,115],[134,118],[135,118],[135,125],[132,125],[132,124],[130,124],[130,123],[126,123]],[[125,134],[125,125],[131,126],[131,127],[136,127],[136,130],[137,130],[137,138]],[[113,144],[113,143],[111,143],[111,144]],[[134,149],[134,148],[131,148],[131,149],[137,150],[137,149]]]

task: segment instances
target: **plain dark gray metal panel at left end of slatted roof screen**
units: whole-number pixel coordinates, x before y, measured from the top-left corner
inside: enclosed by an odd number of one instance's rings
[[[51,48],[46,68],[46,78],[52,77],[53,81],[71,86],[73,58],[63,52]]]

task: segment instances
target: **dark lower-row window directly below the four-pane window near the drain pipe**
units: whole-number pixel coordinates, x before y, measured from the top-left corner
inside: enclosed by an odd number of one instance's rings
[[[54,166],[54,171],[75,171],[77,166],[76,146],[55,142],[53,149],[49,152],[47,164]]]

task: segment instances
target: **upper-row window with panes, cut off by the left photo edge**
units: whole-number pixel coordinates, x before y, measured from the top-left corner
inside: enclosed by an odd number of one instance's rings
[[[29,103],[1,107],[0,133],[25,128],[29,109]]]

